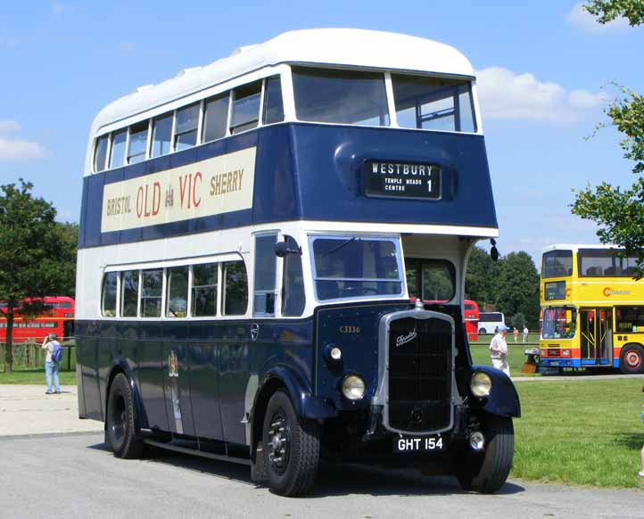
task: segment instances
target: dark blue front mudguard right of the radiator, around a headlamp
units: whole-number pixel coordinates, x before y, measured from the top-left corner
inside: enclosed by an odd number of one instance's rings
[[[475,397],[469,389],[469,381],[477,371],[482,371],[491,378],[492,387],[490,395],[487,397]],[[483,409],[491,415],[521,417],[519,395],[516,392],[515,384],[512,383],[508,375],[490,366],[472,366],[463,370],[460,375],[463,382],[461,387],[466,387],[470,408]]]

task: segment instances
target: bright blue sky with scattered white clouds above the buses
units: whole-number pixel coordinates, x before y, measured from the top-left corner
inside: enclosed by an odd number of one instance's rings
[[[519,7],[520,6],[520,7]],[[355,27],[457,47],[479,74],[501,253],[594,243],[571,188],[629,185],[604,119],[616,80],[644,92],[644,27],[599,26],[574,1],[12,2],[0,17],[0,184],[19,177],[78,221],[87,133],[136,86],[291,29]]]

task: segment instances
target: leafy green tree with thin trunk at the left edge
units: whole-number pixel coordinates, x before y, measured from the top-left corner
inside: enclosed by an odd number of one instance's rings
[[[12,370],[12,329],[16,312],[43,313],[42,298],[70,287],[73,230],[57,224],[51,202],[34,198],[33,185],[0,186],[0,313],[6,318],[5,371]],[[73,227],[73,226],[72,226]],[[70,251],[70,246],[72,251]],[[73,263],[73,261],[72,261]]]

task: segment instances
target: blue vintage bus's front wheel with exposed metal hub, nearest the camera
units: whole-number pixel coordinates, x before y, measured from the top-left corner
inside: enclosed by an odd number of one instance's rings
[[[295,414],[285,391],[270,400],[262,429],[268,487],[280,496],[301,496],[315,483],[319,462],[319,427]]]

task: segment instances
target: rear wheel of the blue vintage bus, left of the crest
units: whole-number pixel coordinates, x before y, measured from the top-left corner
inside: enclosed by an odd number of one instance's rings
[[[144,442],[136,434],[136,416],[132,389],[128,377],[119,373],[114,377],[107,399],[105,442],[116,457],[141,457]]]

